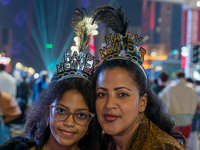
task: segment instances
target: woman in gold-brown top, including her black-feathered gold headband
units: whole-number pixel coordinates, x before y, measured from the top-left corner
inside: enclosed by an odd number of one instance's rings
[[[135,52],[137,45],[130,40],[136,38],[138,44],[141,38],[126,33],[128,19],[123,20],[122,6],[101,6],[94,13],[95,19],[121,34],[105,37],[107,46],[100,50],[103,63],[94,76],[96,112],[107,149],[183,149],[175,138],[184,137],[173,131],[175,123],[152,92],[140,64],[144,49]]]

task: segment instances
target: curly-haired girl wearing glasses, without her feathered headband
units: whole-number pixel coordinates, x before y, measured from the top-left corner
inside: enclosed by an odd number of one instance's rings
[[[27,113],[24,133],[30,141],[16,138],[1,148],[95,149],[96,138],[101,131],[94,117],[93,93],[92,84],[85,79],[54,79]],[[18,144],[10,145],[9,142]]]

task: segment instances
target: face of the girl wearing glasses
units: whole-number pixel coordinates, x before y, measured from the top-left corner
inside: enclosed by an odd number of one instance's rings
[[[66,91],[58,103],[53,102],[51,106],[58,106],[56,108],[52,108],[51,112],[63,115],[64,118],[66,116],[66,112],[75,113],[74,115],[70,114],[64,121],[56,121],[54,119],[55,116],[53,118],[53,115],[50,115],[49,125],[51,134],[49,140],[51,141],[51,144],[60,144],[69,148],[76,147],[78,141],[88,130],[88,124],[81,126],[76,123],[77,120],[76,122],[74,120],[75,117],[79,117],[79,119],[84,118],[85,113],[87,114],[87,112],[89,112],[89,108],[85,103],[84,97],[76,90]],[[54,111],[52,111],[53,109]],[[56,117],[58,118],[58,116]],[[82,123],[81,120],[78,120],[78,122]]]

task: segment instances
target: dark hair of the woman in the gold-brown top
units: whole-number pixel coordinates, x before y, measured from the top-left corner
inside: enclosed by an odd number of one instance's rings
[[[121,67],[126,69],[130,73],[130,77],[136,83],[137,88],[139,89],[139,95],[143,96],[147,93],[147,107],[145,110],[146,116],[155,123],[161,130],[165,131],[169,135],[173,136],[177,140],[182,140],[184,147],[185,138],[181,133],[174,131],[175,122],[172,118],[166,113],[165,106],[162,100],[158,99],[157,95],[151,89],[151,84],[149,79],[145,77],[145,74],[137,66],[129,60],[120,60],[114,59],[109,61],[104,61],[94,73],[93,83],[96,85],[99,74],[105,69],[114,69],[115,67]],[[182,143],[180,142],[180,143]]]

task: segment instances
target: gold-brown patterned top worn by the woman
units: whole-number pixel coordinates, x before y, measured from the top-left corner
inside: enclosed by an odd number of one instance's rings
[[[145,126],[145,129],[142,127],[144,126],[138,128],[136,133],[132,135],[127,149],[184,150],[184,148],[179,144],[179,142],[175,138],[162,131],[157,125],[152,123],[150,120],[148,125]],[[114,147],[114,141],[112,140],[112,137],[110,135],[104,133],[102,139],[105,141],[107,147],[109,147],[108,149],[112,149]]]

